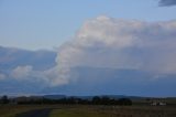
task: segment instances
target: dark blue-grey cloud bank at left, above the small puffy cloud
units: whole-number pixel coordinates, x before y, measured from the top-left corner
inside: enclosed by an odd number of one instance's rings
[[[48,70],[55,66],[56,53],[52,51],[28,51],[0,46],[0,67],[12,70],[16,66],[31,65],[34,70]]]

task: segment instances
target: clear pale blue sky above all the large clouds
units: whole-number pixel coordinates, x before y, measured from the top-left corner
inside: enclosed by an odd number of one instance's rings
[[[158,0],[1,0],[0,45],[53,50],[98,15],[167,21],[175,11],[158,7]]]

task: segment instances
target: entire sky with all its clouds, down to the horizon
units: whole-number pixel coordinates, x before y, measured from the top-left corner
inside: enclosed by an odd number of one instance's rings
[[[0,94],[176,96],[175,0],[1,0]]]

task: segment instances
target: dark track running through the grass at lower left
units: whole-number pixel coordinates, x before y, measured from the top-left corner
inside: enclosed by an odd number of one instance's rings
[[[52,109],[36,109],[16,115],[15,117],[48,117]]]

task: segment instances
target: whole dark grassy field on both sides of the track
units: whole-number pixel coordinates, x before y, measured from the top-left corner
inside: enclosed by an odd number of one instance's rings
[[[176,117],[174,106],[92,105],[4,105],[0,106],[0,117],[18,117],[18,114],[43,108],[52,108],[50,117]]]

